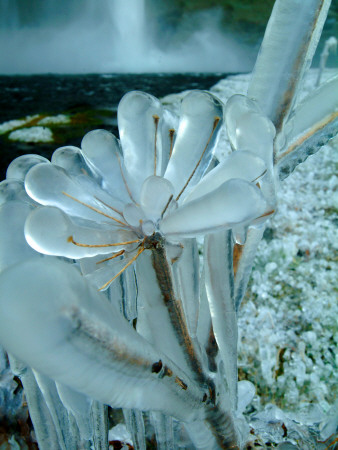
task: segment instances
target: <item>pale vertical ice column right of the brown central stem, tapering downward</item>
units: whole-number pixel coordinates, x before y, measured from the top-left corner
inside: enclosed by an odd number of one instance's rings
[[[212,326],[224,364],[229,397],[237,407],[237,313],[231,231],[206,236],[204,243],[205,285]]]

